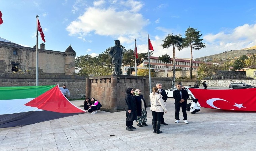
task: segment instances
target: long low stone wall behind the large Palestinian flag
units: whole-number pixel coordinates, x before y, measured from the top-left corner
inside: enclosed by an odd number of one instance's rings
[[[63,84],[66,84],[70,91],[70,99],[85,97],[85,80],[86,77],[84,76],[71,75],[39,75],[38,78],[40,86],[59,84],[59,87],[62,87]],[[0,74],[1,86],[35,86],[35,83],[35,75]]]

